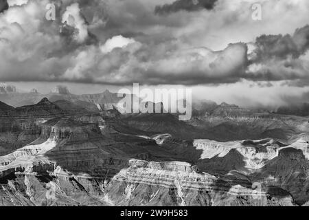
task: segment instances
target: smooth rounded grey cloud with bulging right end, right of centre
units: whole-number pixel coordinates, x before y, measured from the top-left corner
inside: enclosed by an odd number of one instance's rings
[[[247,45],[231,44],[222,51],[177,48],[176,52],[162,54],[147,66],[148,79],[157,84],[164,81],[183,85],[235,83],[247,67]]]

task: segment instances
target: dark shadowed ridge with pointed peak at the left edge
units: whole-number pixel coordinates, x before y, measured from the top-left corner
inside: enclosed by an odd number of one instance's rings
[[[70,116],[79,122],[103,124],[100,113],[89,111],[66,111],[58,105],[43,98],[41,102],[31,106],[14,108],[0,102],[0,156],[15,151],[36,140],[41,133],[47,139],[50,135],[49,123],[59,118]],[[64,122],[65,124],[65,122]],[[70,126],[70,125],[68,125]],[[61,135],[64,135],[61,133]]]

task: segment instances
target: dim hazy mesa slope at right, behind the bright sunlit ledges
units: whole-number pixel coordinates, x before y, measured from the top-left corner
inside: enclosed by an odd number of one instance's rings
[[[287,143],[290,138],[308,133],[308,118],[252,111],[222,103],[212,113],[192,118],[188,124],[201,130],[194,138],[231,141],[275,138]]]

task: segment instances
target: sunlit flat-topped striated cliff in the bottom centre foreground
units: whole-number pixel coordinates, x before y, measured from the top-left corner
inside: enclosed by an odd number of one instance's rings
[[[117,188],[116,188],[116,187]],[[130,160],[106,186],[105,201],[117,206],[292,206],[293,199],[231,186],[184,162]],[[141,193],[143,192],[143,193]]]

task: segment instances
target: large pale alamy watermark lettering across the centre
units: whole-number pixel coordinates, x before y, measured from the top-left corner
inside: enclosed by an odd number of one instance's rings
[[[192,89],[119,89],[117,103],[120,113],[178,113],[179,120],[192,117]]]

